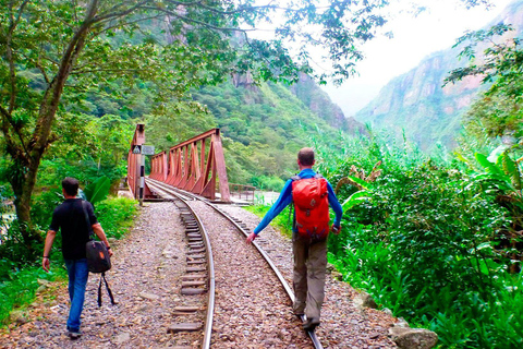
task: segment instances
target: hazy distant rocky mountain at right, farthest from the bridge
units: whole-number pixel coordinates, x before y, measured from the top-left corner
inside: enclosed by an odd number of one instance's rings
[[[507,37],[520,35],[523,29],[523,1],[512,2],[486,28],[500,22],[512,24],[515,29]],[[404,130],[406,136],[424,149],[431,149],[438,142],[449,148],[454,147],[461,116],[478,92],[485,88],[479,76],[469,76],[442,87],[451,70],[467,64],[466,60],[458,59],[460,51],[458,47],[428,56],[416,68],[391,80],[355,118],[397,134]]]

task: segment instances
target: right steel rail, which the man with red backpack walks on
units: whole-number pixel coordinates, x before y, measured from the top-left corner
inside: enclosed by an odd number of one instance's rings
[[[185,196],[191,196],[193,197],[194,200],[198,200],[198,201],[202,201],[204,203],[206,203],[208,206],[212,207],[216,212],[218,212],[220,215],[222,215],[223,217],[226,217],[230,222],[232,222],[241,232],[243,232],[243,234],[245,237],[248,237],[250,232],[247,232],[244,228],[242,228],[242,226],[240,226],[236,221],[234,221],[234,219],[232,219],[231,216],[229,216],[226,212],[221,210],[220,208],[218,208],[216,205],[211,204],[210,202],[208,202],[206,198],[203,198],[200,196],[197,196],[197,195],[194,195],[192,193],[187,193],[186,191],[183,191],[183,190],[180,190],[178,188],[174,188],[172,185],[169,185],[169,184],[166,184],[166,183],[162,183],[160,181],[156,181],[156,180],[153,180],[153,179],[147,179],[147,181],[151,181],[153,183],[159,185],[159,186],[162,186],[163,190],[166,191],[169,191],[171,193],[173,192],[177,192],[177,193],[183,193],[183,195]],[[278,267],[272,263],[272,261],[270,260],[270,257],[267,255],[267,253],[259,246],[259,244],[255,241],[253,241],[253,245],[256,248],[256,250],[258,250],[259,254],[262,254],[262,256],[265,258],[265,262],[267,262],[267,264],[271,267],[272,272],[276,274],[276,276],[278,277],[278,279],[280,280],[281,285],[283,286],[283,289],[285,290],[287,292],[287,296],[289,297],[289,299],[294,303],[294,292],[292,291],[291,287],[289,286],[289,282],[287,282],[287,280],[284,279],[283,275],[280,273],[280,270],[278,269]],[[302,322],[305,321],[305,316],[301,316],[301,320]],[[311,340],[313,341],[313,345],[314,345],[314,348],[315,349],[324,349],[324,347],[321,346],[321,342],[319,341],[318,337],[316,336],[316,333],[314,330],[307,330],[306,332],[308,337],[311,338]]]

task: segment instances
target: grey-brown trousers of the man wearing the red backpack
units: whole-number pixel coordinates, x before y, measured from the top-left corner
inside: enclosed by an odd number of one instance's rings
[[[292,284],[295,301],[294,313],[304,313],[307,318],[319,320],[325,298],[325,273],[327,268],[327,240],[311,241],[293,233],[292,252],[294,273]]]

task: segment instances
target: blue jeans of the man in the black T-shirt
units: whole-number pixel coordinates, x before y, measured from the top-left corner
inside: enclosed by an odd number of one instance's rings
[[[69,298],[71,299],[68,330],[80,332],[80,315],[84,309],[85,287],[89,276],[87,260],[65,260],[65,266],[69,275]]]

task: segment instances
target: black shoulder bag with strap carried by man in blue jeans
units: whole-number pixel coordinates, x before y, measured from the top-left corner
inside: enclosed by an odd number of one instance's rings
[[[106,244],[101,241],[96,241],[93,239],[95,234],[93,228],[90,227],[89,215],[87,215],[87,209],[85,208],[85,201],[82,201],[82,208],[84,210],[85,222],[87,224],[87,229],[89,230],[89,241],[85,244],[85,256],[87,257],[87,267],[90,273],[101,274],[100,284],[98,285],[98,306],[101,306],[101,280],[106,284],[107,293],[111,299],[111,304],[115,304],[114,297],[112,291],[109,288],[109,284],[106,279],[106,272],[111,268],[111,258],[109,252],[107,251]]]

